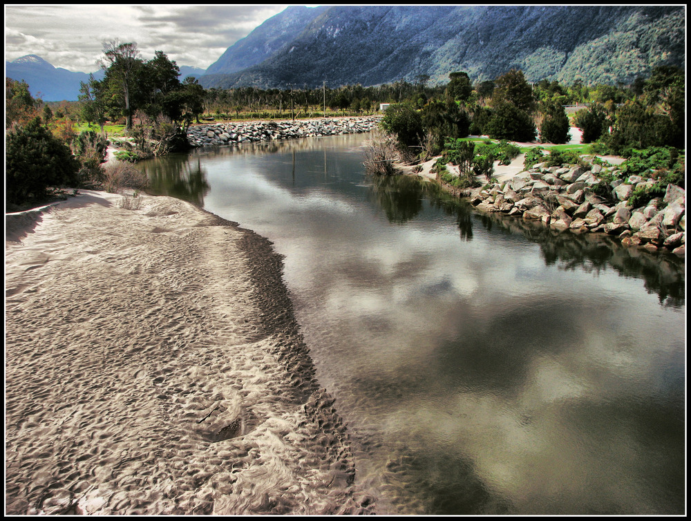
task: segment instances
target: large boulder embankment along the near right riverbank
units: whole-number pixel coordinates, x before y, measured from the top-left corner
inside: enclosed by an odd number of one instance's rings
[[[630,198],[637,187],[651,187],[654,180],[641,176],[617,178],[620,171],[609,171],[614,181],[608,184],[613,200],[594,192],[604,173],[599,164],[589,167],[536,164],[513,178],[460,195],[473,206],[489,212],[502,212],[524,220],[541,221],[558,231],[600,232],[615,236],[623,245],[639,246],[654,252],[666,249],[685,255],[685,200],[681,187],[669,184],[663,198],[654,198],[644,207],[634,208]],[[601,185],[600,185],[601,186]]]

